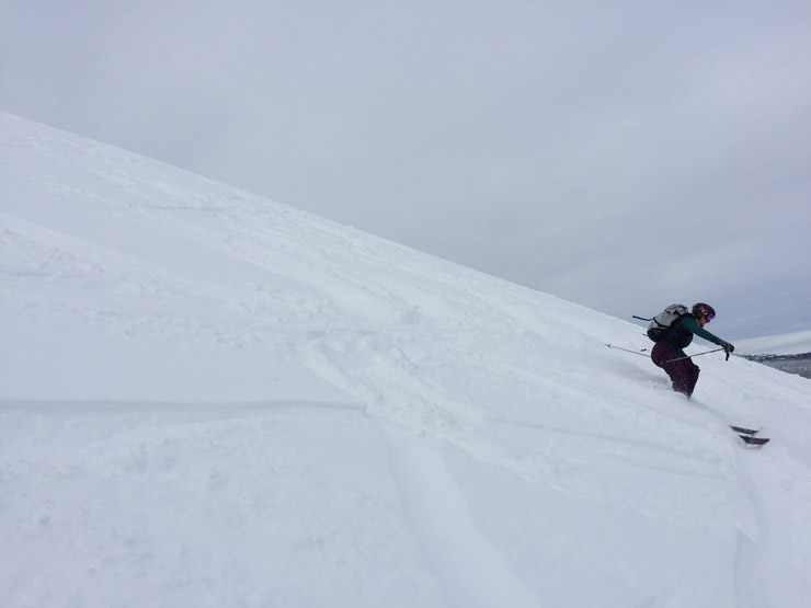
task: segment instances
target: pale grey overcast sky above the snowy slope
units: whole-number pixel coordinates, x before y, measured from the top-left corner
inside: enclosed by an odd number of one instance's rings
[[[811,326],[811,2],[0,0],[0,108],[629,319]]]

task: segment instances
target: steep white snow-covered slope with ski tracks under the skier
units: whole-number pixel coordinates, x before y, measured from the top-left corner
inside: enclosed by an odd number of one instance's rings
[[[808,605],[809,380],[713,353],[687,402],[637,325],[0,137],[0,606]]]

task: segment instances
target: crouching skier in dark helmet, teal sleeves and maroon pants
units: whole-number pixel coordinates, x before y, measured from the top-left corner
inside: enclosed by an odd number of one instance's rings
[[[730,353],[735,349],[729,342],[704,329],[715,317],[716,311],[711,306],[698,302],[692,312],[686,312],[673,321],[651,351],[651,359],[667,372],[673,381],[673,390],[684,393],[687,399],[693,394],[698,374],[701,371],[693,359],[684,354],[684,348],[693,342],[693,335],[699,335],[721,346],[727,353],[728,360]]]

